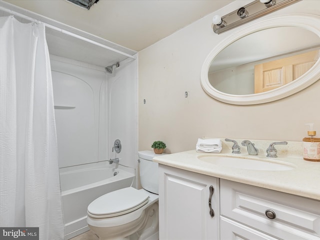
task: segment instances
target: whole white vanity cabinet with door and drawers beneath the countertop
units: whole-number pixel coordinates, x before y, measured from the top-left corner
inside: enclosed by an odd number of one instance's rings
[[[320,240],[320,201],[159,164],[159,238]]]

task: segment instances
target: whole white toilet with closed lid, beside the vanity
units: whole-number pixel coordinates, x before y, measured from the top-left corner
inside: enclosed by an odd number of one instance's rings
[[[164,153],[162,153],[164,154]],[[153,151],[139,151],[142,189],[126,187],[93,200],[87,208],[87,223],[100,240],[157,240],[158,163]]]

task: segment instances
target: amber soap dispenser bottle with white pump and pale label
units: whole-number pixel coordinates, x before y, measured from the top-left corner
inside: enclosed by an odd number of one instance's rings
[[[307,131],[309,137],[304,137],[303,141],[303,159],[307,161],[320,161],[320,138],[314,137],[316,131],[313,130],[313,123],[306,123],[309,125]]]

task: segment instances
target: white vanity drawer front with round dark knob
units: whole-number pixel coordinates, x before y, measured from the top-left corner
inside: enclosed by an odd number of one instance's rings
[[[220,211],[280,239],[320,239],[317,200],[221,179]]]

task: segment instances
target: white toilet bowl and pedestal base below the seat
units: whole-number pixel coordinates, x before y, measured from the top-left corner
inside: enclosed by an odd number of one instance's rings
[[[89,227],[99,240],[158,240],[158,202],[146,207],[140,217],[132,222],[107,228]]]

